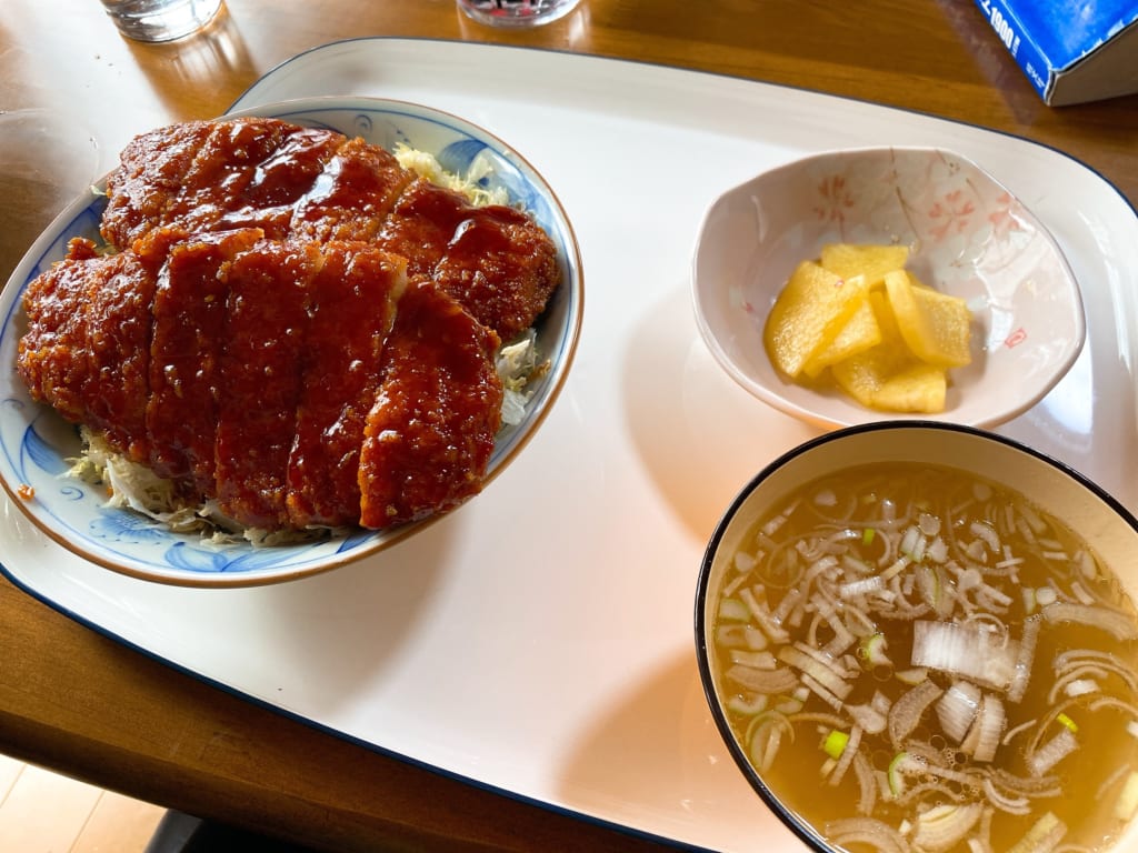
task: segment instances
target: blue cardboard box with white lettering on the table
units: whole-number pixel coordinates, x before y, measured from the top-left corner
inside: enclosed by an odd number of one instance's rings
[[[1138,92],[1138,0],[975,0],[1052,106]]]

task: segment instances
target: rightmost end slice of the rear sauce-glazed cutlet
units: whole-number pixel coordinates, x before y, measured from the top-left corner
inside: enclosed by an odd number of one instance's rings
[[[549,234],[520,210],[472,208],[456,225],[435,281],[504,341],[534,325],[561,282]]]

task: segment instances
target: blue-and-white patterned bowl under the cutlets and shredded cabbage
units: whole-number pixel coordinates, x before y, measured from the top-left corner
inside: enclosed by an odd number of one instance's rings
[[[362,97],[325,97],[249,108],[232,115],[281,118],[327,127],[393,149],[434,155],[447,173],[477,181],[495,197],[530,212],[552,238],[561,285],[535,326],[549,370],[527,386],[523,412],[497,434],[485,482],[498,474],[544,421],[572,362],[582,321],[582,265],[576,237],[545,180],[488,131],[429,107]],[[80,556],[140,579],[193,587],[239,587],[294,580],[373,554],[420,531],[430,520],[384,531],[333,531],[314,541],[254,546],[215,544],[198,532],[175,533],[126,508],[107,505],[104,488],[68,474],[81,444],[74,426],[33,401],[17,375],[27,284],[63,259],[72,238],[99,239],[106,198],[94,191],[71,204],[36,240],[0,296],[0,481],[11,503],[44,535]],[[475,498],[477,499],[477,498]],[[461,510],[459,510],[461,511]]]

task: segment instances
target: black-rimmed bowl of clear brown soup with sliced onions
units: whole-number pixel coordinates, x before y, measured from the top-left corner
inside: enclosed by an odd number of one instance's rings
[[[1138,521],[1086,477],[881,422],[735,498],[696,655],[732,757],[815,851],[1130,850],[1136,598]]]

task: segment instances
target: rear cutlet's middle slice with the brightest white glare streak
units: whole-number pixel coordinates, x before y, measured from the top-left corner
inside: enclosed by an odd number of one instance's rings
[[[389,151],[349,139],[296,204],[292,233],[320,241],[371,240],[411,180]]]

